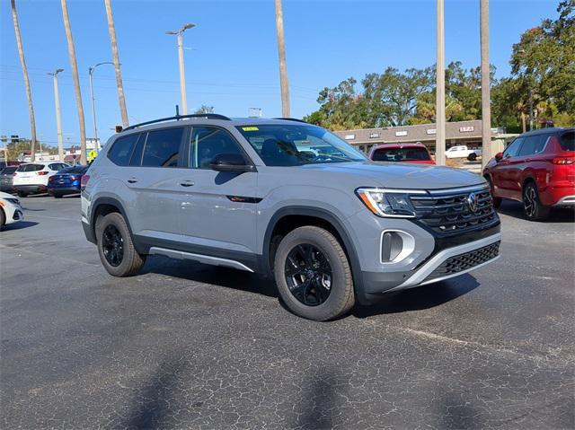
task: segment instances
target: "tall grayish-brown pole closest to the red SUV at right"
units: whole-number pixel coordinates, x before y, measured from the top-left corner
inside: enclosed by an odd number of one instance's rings
[[[491,70],[489,64],[489,0],[481,0],[482,166],[491,160]]]

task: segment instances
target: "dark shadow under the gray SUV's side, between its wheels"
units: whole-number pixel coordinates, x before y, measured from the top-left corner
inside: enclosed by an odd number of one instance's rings
[[[194,261],[153,256],[147,258],[146,266],[142,271],[142,273],[150,272],[269,297],[277,298],[279,295],[273,280],[234,268],[208,266]]]

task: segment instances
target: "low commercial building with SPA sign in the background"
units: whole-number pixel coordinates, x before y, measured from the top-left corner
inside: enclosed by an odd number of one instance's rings
[[[368,153],[373,145],[420,142],[435,153],[435,124],[419,124],[403,127],[358,128],[336,131],[336,135]],[[502,151],[506,142],[517,135],[509,135],[502,128],[491,128],[491,142],[495,147],[492,153]],[[482,121],[458,121],[446,124],[446,147],[468,145],[472,148],[482,146]]]

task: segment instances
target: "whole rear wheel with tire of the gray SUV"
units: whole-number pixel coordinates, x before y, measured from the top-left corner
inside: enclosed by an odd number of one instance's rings
[[[134,276],[146,263],[137,253],[124,217],[117,212],[96,221],[96,240],[102,266],[111,276]]]

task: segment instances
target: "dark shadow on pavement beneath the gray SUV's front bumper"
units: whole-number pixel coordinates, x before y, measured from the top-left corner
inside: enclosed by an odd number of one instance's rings
[[[440,281],[437,284],[422,285],[397,293],[382,294],[377,303],[363,306],[356,304],[353,315],[367,318],[385,313],[421,311],[451,302],[457,297],[473,291],[480,284],[469,275],[464,274],[456,279]]]

